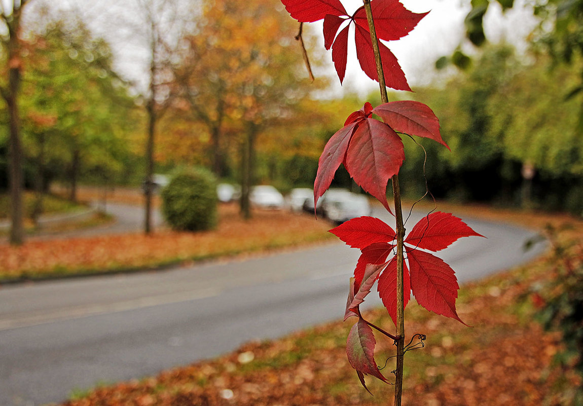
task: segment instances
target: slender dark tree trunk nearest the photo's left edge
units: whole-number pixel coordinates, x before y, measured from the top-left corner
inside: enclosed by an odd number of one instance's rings
[[[0,2],[0,20],[3,24],[0,35],[5,80],[0,87],[0,94],[6,103],[9,117],[9,184],[10,184],[10,243],[22,244],[23,228],[23,172],[22,146],[20,140],[20,116],[18,96],[22,70],[22,44],[20,41],[20,21],[22,11],[29,0],[10,0]]]

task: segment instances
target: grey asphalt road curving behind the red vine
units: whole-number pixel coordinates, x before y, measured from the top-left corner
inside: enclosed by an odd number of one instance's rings
[[[462,239],[441,255],[462,282],[538,253],[522,252],[532,232],[468,224],[489,238]],[[61,401],[74,389],[152,375],[339,319],[358,254],[332,243],[156,273],[4,287],[0,405]]]

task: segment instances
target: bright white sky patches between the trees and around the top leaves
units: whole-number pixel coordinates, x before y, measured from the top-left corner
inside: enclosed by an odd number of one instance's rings
[[[135,1],[52,0],[52,4],[73,9],[89,19],[96,33],[112,44],[117,55],[120,73],[127,76],[129,80],[141,82],[143,86],[149,63],[147,52],[144,51],[143,38],[132,37],[128,34],[128,30],[122,27],[124,19],[127,21],[128,10],[131,17],[131,5]],[[195,1],[188,0],[190,5]],[[278,2],[278,0],[272,1]],[[347,12],[351,14],[362,5],[361,0],[341,1]],[[518,47],[524,46],[523,38],[531,31],[534,21],[532,10],[522,6],[525,1],[527,0],[516,0],[514,9],[508,10],[504,15],[498,3],[491,2],[484,19],[486,36],[490,41],[497,42],[505,39]],[[433,79],[434,62],[443,55],[451,55],[462,42],[463,19],[470,6],[469,0],[402,0],[402,3],[409,10],[417,13],[431,10],[408,36],[388,43],[388,47],[398,58],[410,86],[415,90],[415,86],[428,84]],[[310,24],[310,26],[312,26],[312,32],[319,38],[322,52],[325,52],[324,59],[328,65],[328,73],[333,76],[331,92],[333,96],[342,96],[346,91],[356,91],[359,96],[366,96],[370,91],[378,89],[378,83],[368,79],[360,70],[354,53],[354,45],[350,42],[349,62],[344,84],[341,87],[338,77],[333,72],[331,52],[324,50],[321,22]],[[349,38],[354,41],[353,34]],[[467,41],[464,46],[466,52],[472,52]]]

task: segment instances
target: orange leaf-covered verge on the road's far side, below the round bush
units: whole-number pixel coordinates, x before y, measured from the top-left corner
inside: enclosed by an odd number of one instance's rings
[[[220,208],[220,223],[208,232],[126,234],[28,241],[2,245],[0,283],[82,274],[156,269],[216,257],[262,252],[332,240],[331,225],[311,216],[257,211],[251,221],[234,205]]]

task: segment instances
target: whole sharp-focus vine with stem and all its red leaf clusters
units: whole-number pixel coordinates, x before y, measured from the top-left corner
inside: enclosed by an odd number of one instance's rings
[[[378,218],[365,216],[349,220],[331,232],[347,245],[361,250],[345,312],[345,320],[350,316],[359,319],[347,340],[350,365],[356,369],[365,388],[364,375],[388,382],[374,360],[373,329],[394,340],[397,344],[395,405],[401,405],[406,351],[403,311],[410,295],[413,293],[427,310],[462,322],[455,309],[459,285],[454,270],[432,252],[445,249],[464,236],[480,236],[458,217],[438,211],[427,214],[405,238],[398,179],[405,160],[401,135],[429,138],[449,147],[441,137],[438,118],[427,105],[416,101],[388,102],[387,86],[409,91],[410,87],[395,55],[380,40],[398,40],[406,36],[427,13],[410,12],[398,0],[364,0],[364,5],[352,15],[339,0],[282,2],[291,17],[300,23],[324,20],[324,45],[326,50],[332,50],[340,83],[345,77],[349,27],[353,24],[360,67],[368,77],[380,83],[382,104],[373,108],[365,103],[361,110],[348,116],[344,126],[326,143],[318,161],[314,206],[343,164],[354,182],[392,214],[387,200],[387,183],[392,180],[396,230]],[[391,259],[387,260],[389,256]],[[360,312],[360,304],[375,283],[395,323],[395,335],[374,326]],[[423,335],[419,337],[424,338]]]

